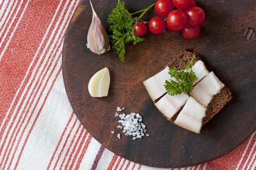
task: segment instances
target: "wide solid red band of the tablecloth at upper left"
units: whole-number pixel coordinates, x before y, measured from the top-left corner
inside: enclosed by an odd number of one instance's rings
[[[21,8],[24,8],[24,6],[25,4],[22,4]],[[46,6],[48,6],[47,9]],[[46,46],[47,40],[51,39],[50,36],[52,29],[47,31],[47,26],[51,23],[51,18],[53,18],[57,6],[58,4],[52,0],[44,0],[44,3],[40,3],[40,5],[38,5],[37,1],[31,1],[28,4],[23,17],[18,23],[18,27],[12,36],[8,48],[0,60],[0,79],[5,80],[0,81],[0,99],[2,101],[0,108],[0,124],[2,124],[5,113],[7,113],[8,108],[15,97],[17,89],[20,85],[22,85],[22,79],[24,79],[29,66],[31,65],[31,70],[33,70],[35,67],[36,63],[32,63],[32,61],[36,61],[36,59],[40,56],[34,56],[34,54],[38,50],[38,46],[42,42],[44,35],[49,34],[46,40],[43,42],[43,46]],[[47,13],[45,13],[45,11],[47,11]],[[45,17],[43,17],[43,15]],[[34,19],[38,17],[40,17],[40,19]],[[19,18],[16,18],[16,24],[17,19]],[[34,25],[31,25],[31,20],[34,21]],[[57,18],[55,22],[57,22]],[[17,44],[17,42],[20,42],[21,39],[22,43]],[[8,41],[7,38],[6,41]],[[31,44],[33,44],[33,46],[31,46]],[[0,51],[2,50],[3,49],[0,49]],[[26,51],[26,53],[24,53],[24,51]],[[42,52],[43,49],[40,51]],[[17,100],[14,101],[14,107],[17,105],[18,99],[29,81],[29,77],[31,76],[32,72],[29,72],[28,74],[28,78],[24,80],[20,93],[18,93]],[[14,108],[11,110],[11,112],[13,110]],[[6,124],[8,124],[12,115],[12,113],[6,115],[7,119],[4,122],[4,128]]]

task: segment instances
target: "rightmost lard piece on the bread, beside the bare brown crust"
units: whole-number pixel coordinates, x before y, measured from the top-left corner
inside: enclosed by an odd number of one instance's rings
[[[207,107],[213,96],[220,93],[223,87],[224,84],[211,71],[201,82],[194,86],[190,95]]]

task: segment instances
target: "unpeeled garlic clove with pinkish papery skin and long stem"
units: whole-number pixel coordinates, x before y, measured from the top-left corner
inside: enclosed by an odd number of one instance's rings
[[[92,8],[92,21],[87,34],[87,48],[93,53],[102,54],[110,49],[108,35],[102,24],[101,19]]]

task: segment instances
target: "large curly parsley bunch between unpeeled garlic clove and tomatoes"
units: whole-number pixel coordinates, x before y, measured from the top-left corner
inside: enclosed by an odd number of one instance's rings
[[[154,6],[154,3],[148,8],[139,10],[135,13],[129,13],[124,7],[124,2],[118,0],[116,8],[108,15],[107,21],[110,24],[109,35],[112,50],[119,55],[120,61],[124,62],[125,44],[133,42],[136,45],[144,40],[143,37],[139,37],[134,34],[133,25],[137,22],[137,19],[143,17],[143,15]],[[142,12],[139,17],[132,17],[132,15]]]

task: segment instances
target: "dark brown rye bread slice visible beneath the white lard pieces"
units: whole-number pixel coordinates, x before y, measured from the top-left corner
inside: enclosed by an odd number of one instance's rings
[[[178,53],[177,55],[175,55],[174,58],[167,64],[167,66],[169,66],[170,68],[176,67],[177,70],[185,69],[188,66],[189,62],[191,61],[193,55],[196,56],[193,61],[193,64],[196,63],[198,60],[202,60],[199,57],[199,55],[196,54],[195,52],[183,50],[180,53]],[[213,97],[213,99],[211,100],[211,102],[208,104],[207,110],[205,112],[206,116],[203,119],[203,126],[210,119],[212,119],[213,116],[216,115],[224,107],[224,105],[231,100],[231,98],[232,98],[232,92],[225,85],[221,89],[221,92],[218,93],[217,95],[215,95]],[[170,120],[173,123],[179,113],[180,113],[180,111],[177,112],[171,119],[168,119],[168,120]]]

